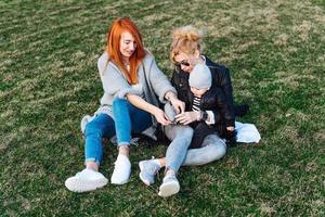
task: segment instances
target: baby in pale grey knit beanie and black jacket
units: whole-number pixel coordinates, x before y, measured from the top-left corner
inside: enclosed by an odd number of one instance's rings
[[[196,113],[196,122],[190,124],[194,129],[190,149],[200,148],[204,138],[211,133],[218,133],[229,143],[235,141],[235,116],[222,89],[211,87],[211,80],[210,69],[205,64],[197,64],[190,74],[191,90],[187,92],[185,111]],[[179,119],[180,115],[170,104],[165,105],[165,113],[171,122]]]

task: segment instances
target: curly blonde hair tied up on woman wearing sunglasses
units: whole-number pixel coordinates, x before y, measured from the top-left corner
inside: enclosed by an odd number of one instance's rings
[[[196,50],[202,52],[203,31],[192,25],[179,27],[172,31],[172,42],[170,47],[170,60],[174,62],[174,56],[180,52],[194,54]]]

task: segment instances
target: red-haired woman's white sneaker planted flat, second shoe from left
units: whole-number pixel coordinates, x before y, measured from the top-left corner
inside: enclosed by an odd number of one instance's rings
[[[123,184],[129,181],[131,174],[131,163],[129,157],[119,154],[115,162],[115,168],[110,177],[110,182],[115,184]]]

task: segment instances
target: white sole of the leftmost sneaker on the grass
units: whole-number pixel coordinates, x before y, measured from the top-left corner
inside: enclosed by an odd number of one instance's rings
[[[73,192],[87,192],[103,188],[107,183],[107,179],[100,179],[96,181],[84,181],[72,178],[65,181],[65,187]]]

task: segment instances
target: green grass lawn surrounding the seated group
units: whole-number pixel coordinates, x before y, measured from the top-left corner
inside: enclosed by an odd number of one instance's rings
[[[103,93],[96,60],[108,25],[130,16],[160,68],[173,27],[205,30],[205,53],[231,68],[235,101],[259,144],[180,170],[181,192],[157,195],[138,162],[166,148],[132,148],[128,184],[67,191],[82,169],[79,122]],[[299,1],[1,1],[0,216],[324,216],[325,3]],[[109,177],[116,149],[105,145]]]

